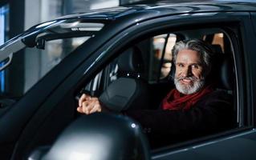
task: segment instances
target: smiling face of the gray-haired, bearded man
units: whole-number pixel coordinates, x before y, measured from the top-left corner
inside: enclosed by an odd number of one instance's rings
[[[193,94],[205,85],[200,54],[195,50],[180,50],[177,54],[175,86],[182,94]]]

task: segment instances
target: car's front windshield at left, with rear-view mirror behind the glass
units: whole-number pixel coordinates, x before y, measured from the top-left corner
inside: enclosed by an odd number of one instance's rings
[[[0,46],[1,99],[18,99],[78,46],[104,27],[103,22],[71,19],[39,24]],[[10,56],[12,55],[12,56]]]

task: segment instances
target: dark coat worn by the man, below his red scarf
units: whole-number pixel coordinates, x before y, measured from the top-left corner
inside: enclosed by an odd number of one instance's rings
[[[128,110],[148,135],[152,147],[197,138],[234,126],[230,94],[216,90],[202,97],[190,110]]]

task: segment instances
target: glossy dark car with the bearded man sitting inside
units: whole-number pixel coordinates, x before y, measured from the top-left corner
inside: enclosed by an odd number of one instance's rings
[[[213,47],[234,126],[155,146],[150,128],[116,113],[157,109],[173,88],[173,45],[190,38]],[[119,6],[32,26],[0,46],[0,158],[256,159],[255,41],[249,1]],[[83,93],[114,114],[79,114]]]

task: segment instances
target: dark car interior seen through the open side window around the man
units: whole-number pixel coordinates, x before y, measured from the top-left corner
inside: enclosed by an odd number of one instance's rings
[[[213,65],[208,78],[213,81],[216,90],[234,95],[236,77],[230,39],[219,28],[206,28],[154,35],[121,50],[118,57],[79,91],[77,98],[82,93],[92,93],[109,110],[117,113],[124,110],[157,110],[161,100],[175,87],[172,48],[175,42],[190,38],[200,38],[212,46]],[[233,97],[236,114],[238,107]],[[234,127],[238,126],[238,118],[235,121]]]

